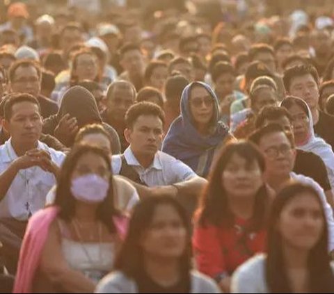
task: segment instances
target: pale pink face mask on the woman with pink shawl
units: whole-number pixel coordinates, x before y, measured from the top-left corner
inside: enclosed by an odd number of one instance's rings
[[[101,203],[106,199],[108,190],[109,182],[97,174],[86,174],[72,180],[72,195],[82,202]]]

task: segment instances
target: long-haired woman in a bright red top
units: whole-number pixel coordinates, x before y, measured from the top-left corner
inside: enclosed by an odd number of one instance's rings
[[[227,145],[216,161],[196,213],[193,251],[200,272],[230,291],[234,270],[264,252],[270,195],[264,158],[255,145]]]

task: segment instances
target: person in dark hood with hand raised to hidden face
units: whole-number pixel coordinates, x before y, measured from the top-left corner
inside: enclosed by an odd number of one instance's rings
[[[120,139],[115,129],[102,122],[94,96],[79,85],[65,92],[58,113],[44,121],[43,133],[55,136],[71,147],[79,129],[88,124],[102,124],[113,139],[113,154],[120,153]]]

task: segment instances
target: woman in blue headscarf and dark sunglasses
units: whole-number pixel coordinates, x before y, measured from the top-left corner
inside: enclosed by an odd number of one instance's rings
[[[191,83],[184,88],[181,115],[170,126],[162,150],[207,177],[216,150],[232,138],[219,117],[214,91],[206,83]]]

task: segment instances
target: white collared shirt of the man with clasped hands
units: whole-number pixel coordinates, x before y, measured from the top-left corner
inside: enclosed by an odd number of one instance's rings
[[[49,148],[40,141],[38,149],[49,152],[51,160],[59,167],[63,163],[65,158],[63,152]],[[10,139],[0,146],[0,173],[6,171],[17,158]],[[55,184],[54,174],[45,172],[37,166],[19,170],[6,196],[0,201],[0,218],[28,220],[33,213],[45,206],[47,193]]]

